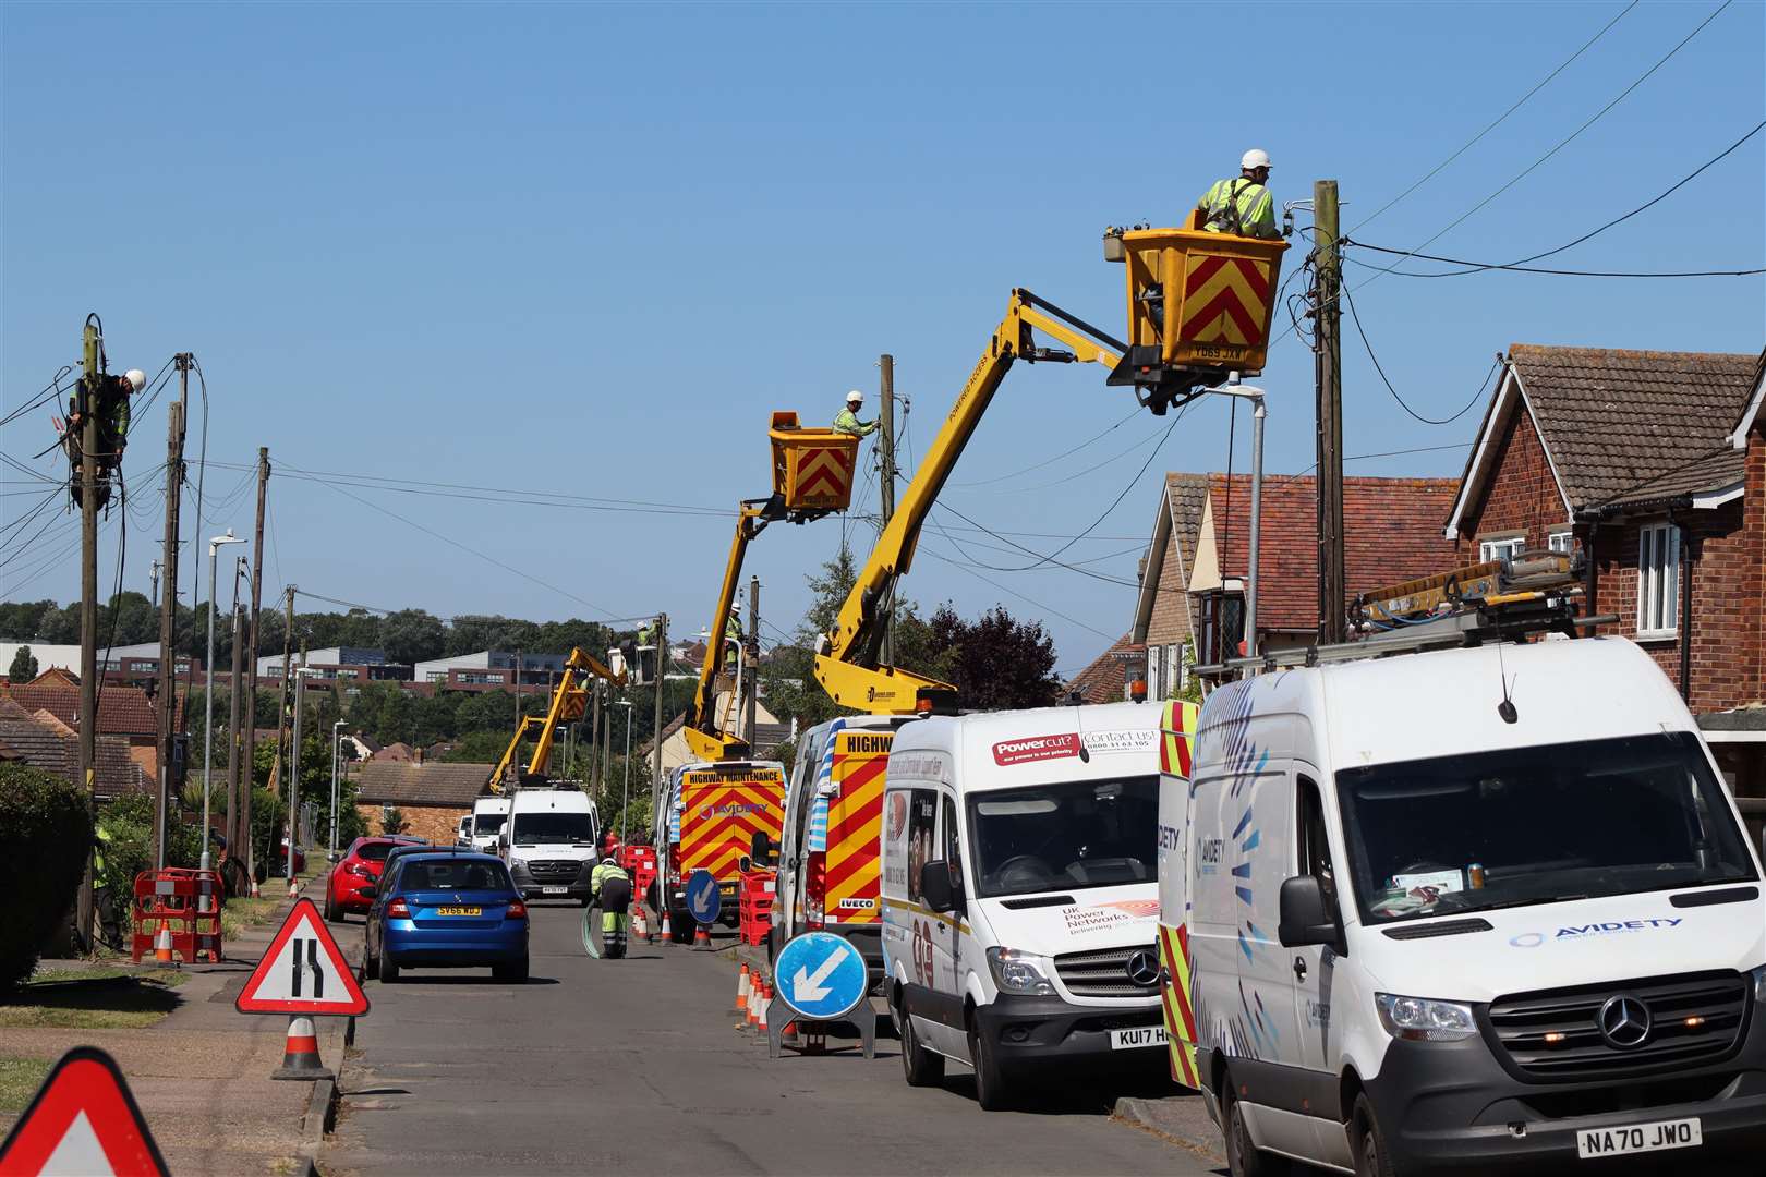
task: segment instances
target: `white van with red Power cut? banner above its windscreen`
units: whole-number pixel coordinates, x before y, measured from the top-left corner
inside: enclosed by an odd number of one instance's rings
[[[1033,1062],[1166,1043],[1155,949],[1158,708],[902,725],[883,799],[883,967],[913,1085],[945,1059],[1008,1106]]]

